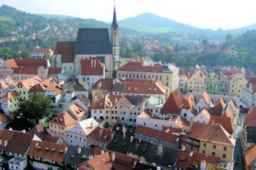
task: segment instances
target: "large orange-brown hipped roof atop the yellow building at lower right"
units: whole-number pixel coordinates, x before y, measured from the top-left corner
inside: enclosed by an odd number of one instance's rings
[[[202,130],[204,129],[204,130]],[[194,122],[190,128],[191,138],[213,144],[235,146],[235,139],[220,124],[201,124]]]

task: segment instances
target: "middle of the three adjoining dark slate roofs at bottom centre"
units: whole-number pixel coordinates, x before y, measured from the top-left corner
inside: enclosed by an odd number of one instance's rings
[[[133,153],[138,156],[143,156],[146,158],[148,152],[150,151],[150,147],[150,142],[144,140],[139,142],[138,139],[134,139],[132,143],[130,143],[127,152]]]

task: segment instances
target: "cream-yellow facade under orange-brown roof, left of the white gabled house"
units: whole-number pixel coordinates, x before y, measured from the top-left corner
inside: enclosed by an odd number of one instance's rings
[[[75,124],[62,126],[62,125],[53,124],[49,122],[49,130],[51,133],[54,134],[54,136],[60,136],[66,142],[66,131],[68,131],[70,128],[73,128],[74,125]]]

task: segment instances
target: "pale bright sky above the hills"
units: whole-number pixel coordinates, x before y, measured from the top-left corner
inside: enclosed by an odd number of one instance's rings
[[[18,10],[33,14],[63,14],[113,18],[114,0],[0,0]],[[256,23],[255,0],[116,0],[118,20],[153,13],[199,28],[234,29]]]

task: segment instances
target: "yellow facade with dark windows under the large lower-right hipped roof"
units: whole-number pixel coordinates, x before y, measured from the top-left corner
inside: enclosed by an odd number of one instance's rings
[[[221,160],[231,162],[234,156],[234,147],[230,145],[214,144],[201,141],[199,152],[212,156],[218,156]]]

